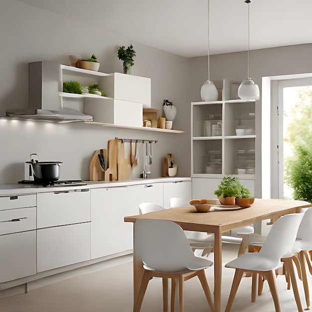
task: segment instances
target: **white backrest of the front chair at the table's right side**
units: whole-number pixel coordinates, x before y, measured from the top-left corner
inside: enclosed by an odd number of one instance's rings
[[[302,217],[302,213],[292,213],[280,217],[272,225],[259,254],[274,261],[292,256],[293,245]]]

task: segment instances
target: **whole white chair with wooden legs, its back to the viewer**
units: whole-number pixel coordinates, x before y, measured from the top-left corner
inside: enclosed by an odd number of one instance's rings
[[[165,242],[165,243],[164,243]],[[149,281],[163,279],[163,311],[167,311],[168,285],[171,279],[171,311],[174,311],[176,281],[179,290],[179,311],[183,312],[183,282],[197,276],[210,310],[213,303],[205,269],[212,266],[208,259],[196,257],[182,228],[172,221],[138,219],[134,224],[134,253],[141,259],[144,275],[138,295],[136,312],[140,312]]]

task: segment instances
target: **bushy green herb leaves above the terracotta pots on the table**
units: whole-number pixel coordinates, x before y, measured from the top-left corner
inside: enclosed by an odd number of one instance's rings
[[[249,189],[244,187],[237,177],[230,176],[223,177],[214,194],[218,197],[250,198]]]

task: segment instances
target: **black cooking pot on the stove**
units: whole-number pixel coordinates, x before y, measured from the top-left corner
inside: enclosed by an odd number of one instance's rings
[[[26,161],[31,163],[32,174],[35,181],[42,181],[45,183],[57,181],[60,177],[61,161]]]

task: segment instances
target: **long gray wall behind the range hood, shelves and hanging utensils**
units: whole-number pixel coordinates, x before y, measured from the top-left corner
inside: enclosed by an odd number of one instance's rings
[[[69,65],[69,54],[88,58],[94,53],[100,71],[122,72],[119,46],[133,43],[137,52],[133,74],[150,77],[152,108],[162,114],[162,101],[177,108],[173,128],[185,134],[166,134],[84,123],[51,124],[0,120],[0,183],[24,178],[24,161],[36,153],[40,160],[63,161],[61,179],[89,179],[95,150],[119,138],[157,140],[153,146],[152,177],[162,176],[162,158],[172,153],[179,176],[190,175],[189,112],[190,59],[129,41],[114,33],[15,0],[0,0],[0,115],[6,109],[28,107],[28,63],[40,60]]]

